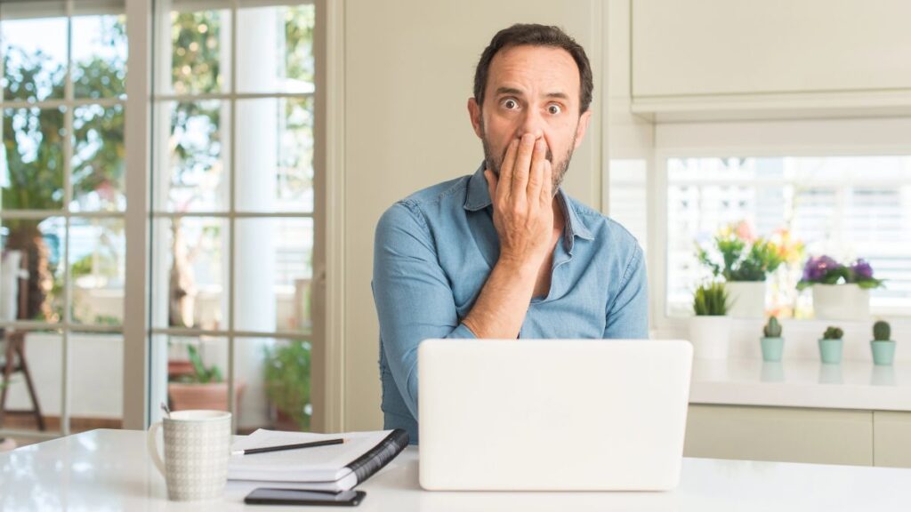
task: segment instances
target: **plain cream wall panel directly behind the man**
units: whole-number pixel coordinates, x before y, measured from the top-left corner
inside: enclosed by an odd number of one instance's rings
[[[601,9],[597,0],[345,4],[344,428],[379,428],[383,421],[370,289],[376,220],[395,200],[470,174],[483,159],[466,100],[477,58],[497,30],[558,25],[586,47],[596,114],[565,186],[600,208]]]

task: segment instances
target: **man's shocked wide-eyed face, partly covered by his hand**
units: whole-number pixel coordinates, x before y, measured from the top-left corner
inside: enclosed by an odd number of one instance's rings
[[[484,146],[487,169],[499,176],[509,142],[532,133],[544,138],[554,169],[554,193],[589,125],[579,116],[576,61],[562,48],[512,46],[490,62],[484,105],[468,99],[475,133]]]

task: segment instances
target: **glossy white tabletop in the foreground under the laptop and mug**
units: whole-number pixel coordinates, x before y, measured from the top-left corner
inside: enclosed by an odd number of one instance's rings
[[[484,464],[484,461],[478,461]],[[360,489],[358,510],[529,511],[907,511],[911,469],[817,466],[685,458],[681,486],[666,493],[427,492],[417,483],[417,449],[409,447]],[[169,502],[163,478],[140,431],[94,430],[0,454],[0,509],[18,510],[333,510],[251,507],[250,486],[222,501]]]

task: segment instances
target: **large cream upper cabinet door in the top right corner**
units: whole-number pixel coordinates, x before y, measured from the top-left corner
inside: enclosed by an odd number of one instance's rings
[[[907,0],[632,0],[634,97],[911,88]]]

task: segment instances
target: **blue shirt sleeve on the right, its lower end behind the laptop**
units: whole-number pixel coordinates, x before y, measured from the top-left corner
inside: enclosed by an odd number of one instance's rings
[[[638,243],[635,248],[620,280],[619,292],[608,302],[605,339],[649,337],[649,282],[642,248]]]

